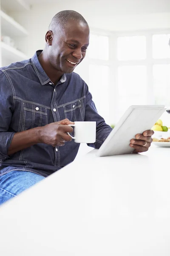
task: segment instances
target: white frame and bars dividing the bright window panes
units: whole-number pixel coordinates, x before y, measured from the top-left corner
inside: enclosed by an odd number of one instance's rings
[[[147,99],[146,102],[148,105],[154,105],[154,84],[153,84],[153,65],[156,64],[170,64],[170,58],[166,59],[154,59],[152,56],[153,47],[152,47],[152,36],[161,35],[161,34],[170,34],[170,29],[148,29],[140,31],[122,31],[122,32],[111,32],[102,29],[91,29],[91,34],[94,35],[104,35],[109,38],[109,59],[99,60],[91,59],[86,54],[86,64],[94,65],[107,65],[110,68],[110,77],[109,77],[109,112],[110,112],[110,124],[116,123],[119,116],[119,84],[118,84],[118,67],[120,66],[129,66],[129,65],[144,65],[147,69]],[[117,58],[117,38],[125,36],[141,36],[146,37],[146,58],[142,60],[126,60],[121,61]],[[101,49],[102,50],[102,49]],[[87,71],[88,71],[87,67]],[[89,78],[89,73],[88,73]],[[87,83],[89,82],[89,79]]]

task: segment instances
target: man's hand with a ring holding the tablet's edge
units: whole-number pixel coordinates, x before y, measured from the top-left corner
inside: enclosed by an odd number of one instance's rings
[[[135,138],[130,140],[130,147],[134,148],[133,153],[145,152],[152,143],[151,136],[154,134],[152,130],[144,131],[143,134],[136,134]]]

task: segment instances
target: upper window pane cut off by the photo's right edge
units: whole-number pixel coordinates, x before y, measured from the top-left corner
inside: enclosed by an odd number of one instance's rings
[[[170,58],[170,47],[168,45],[170,34],[153,35],[153,58]]]

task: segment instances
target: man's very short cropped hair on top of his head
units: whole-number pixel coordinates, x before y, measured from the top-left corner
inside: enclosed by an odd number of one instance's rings
[[[81,14],[72,10],[65,10],[58,12],[51,20],[48,29],[52,30],[55,26],[59,25],[64,28],[68,20],[77,20],[88,25],[87,21]]]

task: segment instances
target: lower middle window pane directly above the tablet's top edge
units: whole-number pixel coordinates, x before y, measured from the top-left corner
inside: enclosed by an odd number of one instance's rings
[[[147,104],[146,66],[122,66],[118,68],[119,118],[130,105]]]

